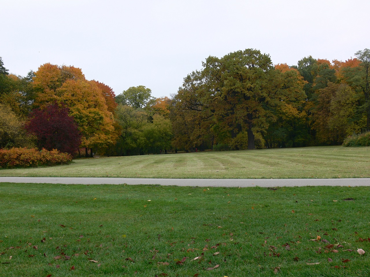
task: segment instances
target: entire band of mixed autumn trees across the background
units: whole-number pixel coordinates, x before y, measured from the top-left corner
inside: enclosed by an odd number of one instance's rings
[[[342,144],[370,130],[370,50],[355,57],[298,66],[255,49],[208,57],[171,99],[145,86],[116,96],[74,66],[16,76],[0,58],[0,148],[92,156]]]

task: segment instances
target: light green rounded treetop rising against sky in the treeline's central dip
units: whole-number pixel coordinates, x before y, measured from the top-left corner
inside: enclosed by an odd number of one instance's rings
[[[153,99],[151,90],[145,86],[131,86],[115,97],[118,104],[129,105],[134,109],[142,109]]]

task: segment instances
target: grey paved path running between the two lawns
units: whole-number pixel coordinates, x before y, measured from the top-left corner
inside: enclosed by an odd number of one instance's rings
[[[303,187],[370,186],[370,178],[347,179],[147,179],[147,178],[74,178],[74,177],[0,177],[0,182],[49,184],[158,184],[191,187]]]

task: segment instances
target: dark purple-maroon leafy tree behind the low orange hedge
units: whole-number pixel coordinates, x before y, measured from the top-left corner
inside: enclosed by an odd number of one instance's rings
[[[59,106],[55,102],[30,113],[26,129],[37,137],[39,150],[58,149],[69,154],[77,152],[81,135],[68,111],[65,105]]]

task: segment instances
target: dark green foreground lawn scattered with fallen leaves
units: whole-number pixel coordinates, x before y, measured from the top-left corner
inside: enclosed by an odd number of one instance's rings
[[[369,276],[369,202],[367,187],[0,183],[0,276]]]

